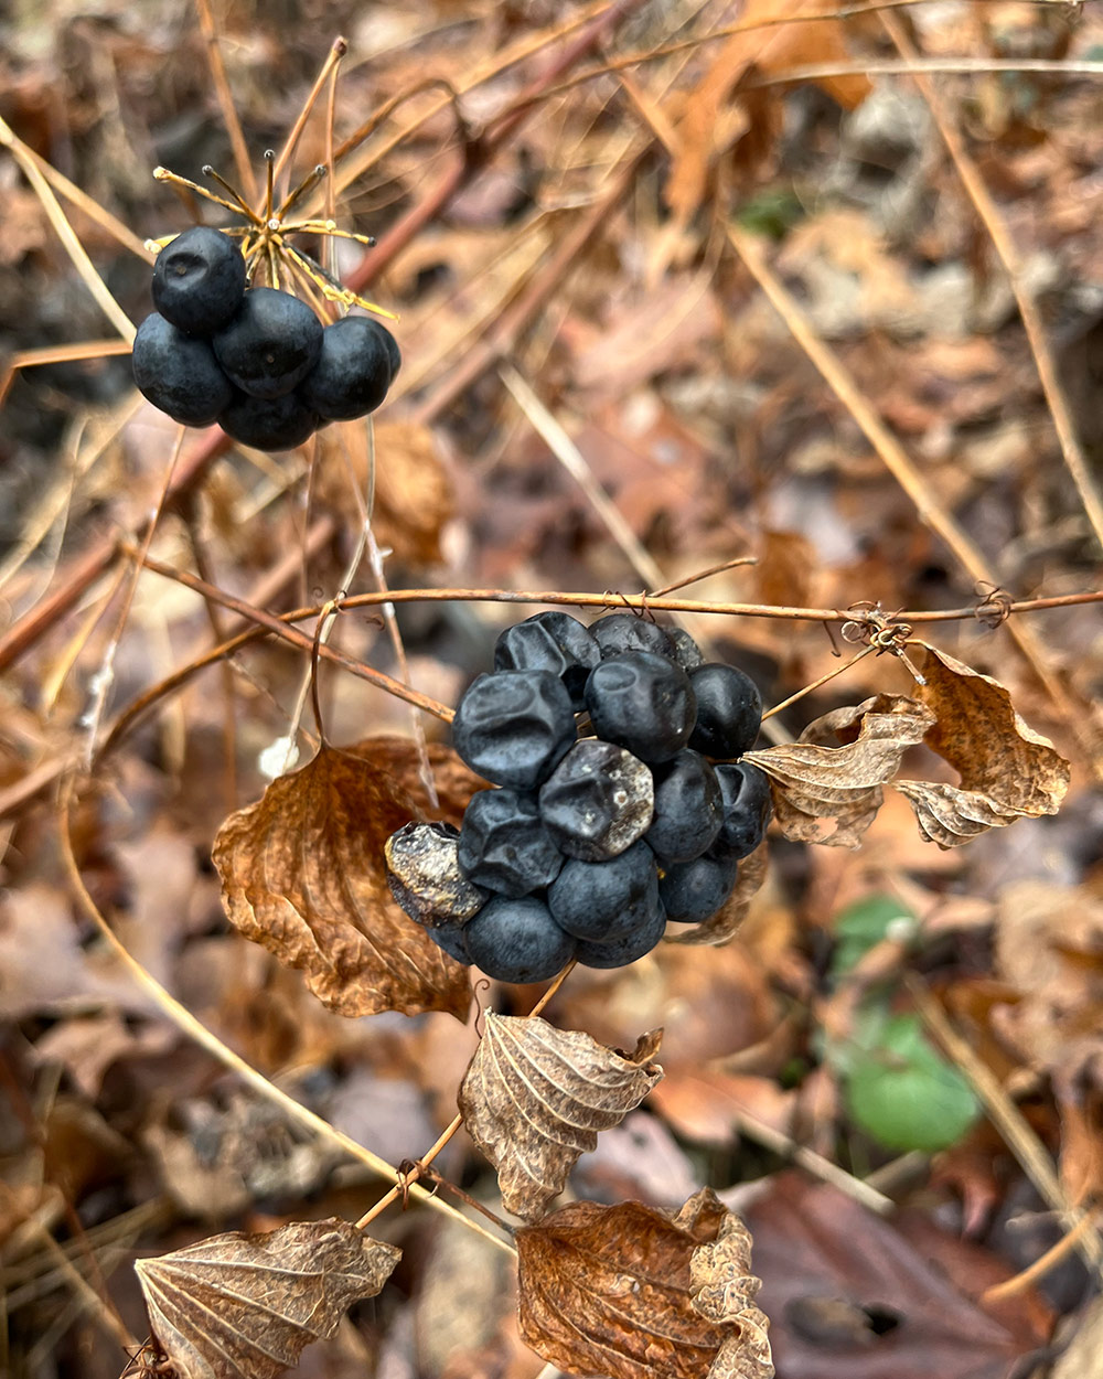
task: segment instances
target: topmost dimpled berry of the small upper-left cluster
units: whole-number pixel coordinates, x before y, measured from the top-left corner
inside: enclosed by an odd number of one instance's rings
[[[212,335],[245,292],[245,259],[221,230],[196,225],[167,244],[153,265],[153,305],[188,335]]]

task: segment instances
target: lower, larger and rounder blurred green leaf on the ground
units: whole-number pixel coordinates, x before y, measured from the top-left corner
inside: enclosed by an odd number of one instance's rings
[[[918,1016],[885,1020],[847,1080],[852,1120],[885,1149],[933,1153],[955,1145],[980,1114],[969,1084],[931,1044]]]

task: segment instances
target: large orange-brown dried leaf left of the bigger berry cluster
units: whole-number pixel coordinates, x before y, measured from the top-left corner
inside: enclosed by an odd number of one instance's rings
[[[433,814],[458,823],[484,782],[445,747],[430,749],[430,764],[441,801]],[[230,923],[301,968],[339,1015],[467,1015],[466,968],[403,914],[386,880],[387,837],[427,812],[416,772],[414,743],[403,738],[321,747],[215,838]]]

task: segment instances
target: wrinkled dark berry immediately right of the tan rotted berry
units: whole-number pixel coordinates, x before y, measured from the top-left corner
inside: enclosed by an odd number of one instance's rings
[[[563,854],[543,826],[535,796],[478,790],[463,814],[458,860],[476,885],[518,896],[550,885]]]

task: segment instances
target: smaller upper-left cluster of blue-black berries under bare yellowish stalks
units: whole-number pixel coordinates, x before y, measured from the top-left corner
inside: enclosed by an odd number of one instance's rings
[[[401,363],[394,336],[367,316],[323,328],[298,296],[247,287],[240,248],[203,225],[157,255],[153,305],[134,338],[139,390],[174,421],[218,422],[256,450],[290,450],[327,422],[375,411]]]

